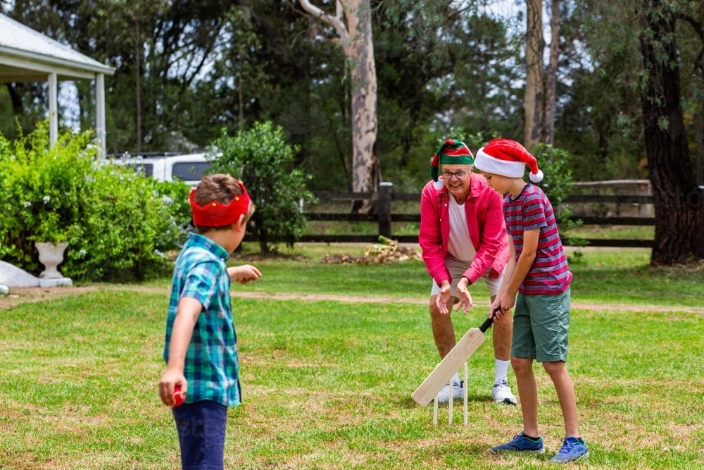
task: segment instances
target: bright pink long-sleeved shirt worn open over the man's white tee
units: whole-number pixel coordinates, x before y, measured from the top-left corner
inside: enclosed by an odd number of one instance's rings
[[[506,224],[503,221],[503,198],[486,184],[482,175],[470,173],[470,194],[465,201],[467,229],[477,255],[464,276],[472,284],[489,271],[490,278],[498,278],[508,263],[509,249]],[[420,234],[418,242],[423,250],[423,261],[428,273],[440,285],[452,282],[445,267],[447,245],[450,240],[450,197],[446,187],[436,190],[430,181],[420,195]]]

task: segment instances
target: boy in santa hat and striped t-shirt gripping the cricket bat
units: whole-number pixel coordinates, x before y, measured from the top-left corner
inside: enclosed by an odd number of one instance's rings
[[[484,175],[486,183],[500,194],[508,194],[503,215],[511,256],[491,311],[500,307],[496,317],[501,318],[516,307],[511,365],[523,414],[522,433],[491,451],[545,452],[538,431],[538,393],[532,369],[535,359],[550,375],[565,419],[565,440],[551,462],[566,464],[589,454],[579,435],[577,400],[565,366],[572,273],[548,197],[522,178],[526,164],[532,182],[542,180],[543,172],[534,156],[508,139],[492,140],[477,151],[474,160],[474,168]]]

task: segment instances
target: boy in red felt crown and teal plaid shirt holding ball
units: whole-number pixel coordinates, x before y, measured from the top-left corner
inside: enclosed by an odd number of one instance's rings
[[[173,407],[182,468],[215,470],[223,468],[227,407],[241,403],[230,282],[246,284],[261,273],[225,264],[254,212],[242,182],[206,176],[189,200],[196,233],[176,260],[159,395]],[[185,397],[178,406],[176,388]]]

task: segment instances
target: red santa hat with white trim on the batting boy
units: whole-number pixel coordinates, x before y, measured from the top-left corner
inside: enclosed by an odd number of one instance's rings
[[[515,140],[494,139],[477,151],[474,168],[507,178],[523,178],[525,166],[530,168],[530,180],[539,183],[543,172],[538,169],[538,161],[529,151]]]

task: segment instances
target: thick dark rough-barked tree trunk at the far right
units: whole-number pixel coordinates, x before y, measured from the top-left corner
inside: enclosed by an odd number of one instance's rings
[[[643,0],[643,67],[648,73],[641,94],[650,182],[655,197],[655,241],[650,264],[684,263],[698,251],[700,199],[689,158],[680,104],[676,18],[661,0]]]

